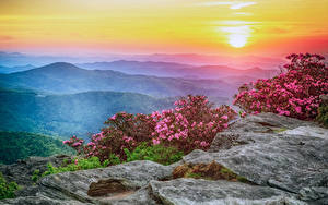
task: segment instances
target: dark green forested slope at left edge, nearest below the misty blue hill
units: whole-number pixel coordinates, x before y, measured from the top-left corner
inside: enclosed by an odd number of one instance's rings
[[[61,141],[47,135],[26,132],[0,132],[0,162],[13,164],[30,156],[48,157],[73,154]]]

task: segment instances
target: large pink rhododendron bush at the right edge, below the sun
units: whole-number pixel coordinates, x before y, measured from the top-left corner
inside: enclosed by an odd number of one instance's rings
[[[328,93],[328,68],[319,55],[291,55],[285,71],[272,79],[239,87],[234,105],[247,113],[273,112],[313,120],[317,116],[320,95]]]

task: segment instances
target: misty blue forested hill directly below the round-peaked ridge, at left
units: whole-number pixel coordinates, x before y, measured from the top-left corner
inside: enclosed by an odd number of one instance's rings
[[[0,131],[43,133],[67,138],[98,132],[113,114],[150,113],[173,106],[173,98],[141,94],[86,92],[71,95],[38,94],[28,89],[0,89]]]

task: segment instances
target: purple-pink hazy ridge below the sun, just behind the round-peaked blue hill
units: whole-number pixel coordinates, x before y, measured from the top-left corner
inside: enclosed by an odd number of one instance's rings
[[[91,70],[114,70],[128,74],[144,74],[165,77],[185,77],[185,79],[226,79],[230,76],[254,76],[270,77],[277,74],[277,70],[263,70],[260,68],[251,68],[246,70],[234,69],[226,65],[202,65],[195,67],[189,64],[153,62],[153,61],[113,61],[113,62],[94,62],[78,64],[84,69]],[[227,80],[229,81],[229,80]]]

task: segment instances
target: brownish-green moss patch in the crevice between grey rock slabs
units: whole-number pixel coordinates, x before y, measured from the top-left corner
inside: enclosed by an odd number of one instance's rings
[[[211,164],[184,164],[176,167],[172,173],[174,179],[177,178],[195,178],[206,180],[227,180],[250,183],[246,178],[234,173],[224,166],[212,161]]]

